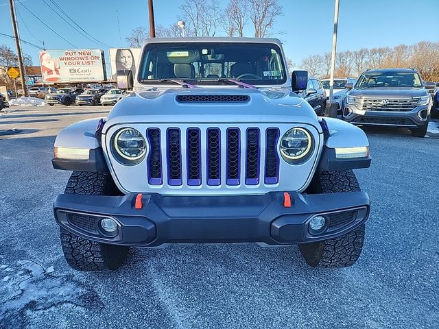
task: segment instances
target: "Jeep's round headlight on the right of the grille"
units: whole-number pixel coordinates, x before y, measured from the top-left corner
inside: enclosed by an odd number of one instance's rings
[[[292,128],[281,139],[281,153],[287,160],[300,160],[309,154],[312,139],[303,128]]]

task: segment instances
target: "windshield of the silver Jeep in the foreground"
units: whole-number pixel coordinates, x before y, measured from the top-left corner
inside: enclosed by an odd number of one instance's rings
[[[271,43],[187,42],[152,43],[143,51],[139,82],[237,79],[248,84],[287,81],[281,49]],[[155,81],[154,81],[155,80]]]

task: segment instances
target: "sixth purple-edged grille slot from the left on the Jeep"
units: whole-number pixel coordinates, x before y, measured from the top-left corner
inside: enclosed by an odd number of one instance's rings
[[[246,184],[259,184],[259,129],[248,128],[246,134]]]

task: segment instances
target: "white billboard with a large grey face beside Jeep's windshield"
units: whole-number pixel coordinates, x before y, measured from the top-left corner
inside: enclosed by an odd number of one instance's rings
[[[132,76],[136,75],[136,69],[140,62],[141,48],[110,48],[111,78],[116,79],[119,70],[130,70]]]

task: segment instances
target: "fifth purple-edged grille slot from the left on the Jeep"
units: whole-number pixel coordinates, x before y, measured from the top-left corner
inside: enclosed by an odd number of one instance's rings
[[[241,173],[241,142],[238,128],[228,128],[226,132],[226,184],[239,185]]]

